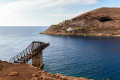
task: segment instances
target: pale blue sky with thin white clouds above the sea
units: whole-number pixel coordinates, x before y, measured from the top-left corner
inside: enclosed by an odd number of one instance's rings
[[[50,26],[120,0],[0,0],[0,26]]]

